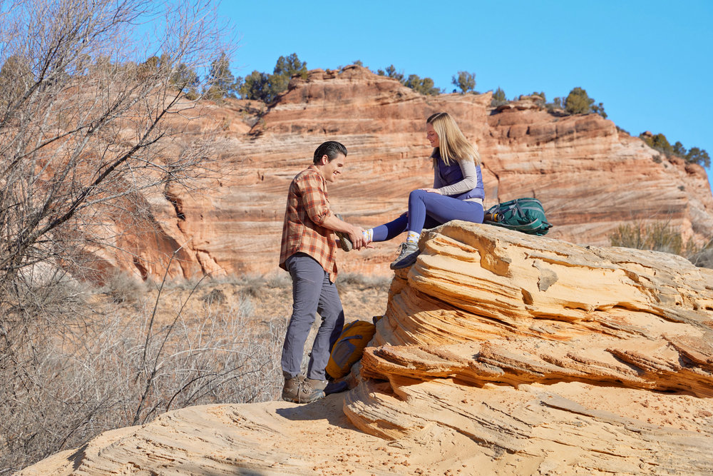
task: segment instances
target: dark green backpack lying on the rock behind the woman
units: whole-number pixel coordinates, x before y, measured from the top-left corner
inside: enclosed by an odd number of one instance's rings
[[[546,235],[552,228],[545,218],[542,203],[537,198],[517,198],[498,203],[488,208],[483,223],[540,236]]]

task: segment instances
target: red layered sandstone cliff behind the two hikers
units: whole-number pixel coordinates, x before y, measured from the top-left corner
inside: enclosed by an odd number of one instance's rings
[[[284,200],[292,177],[326,140],[349,148],[349,170],[330,186],[333,208],[347,221],[376,226],[406,209],[409,191],[430,186],[433,172],[424,123],[448,111],[477,143],[486,205],[540,198],[555,228],[550,236],[608,245],[620,223],[666,221],[684,240],[713,236],[713,196],[703,168],[666,158],[597,114],[561,116],[531,98],[491,108],[491,93],[422,96],[359,66],[292,79],[270,108],[255,101],[204,102],[185,130],[220,126],[220,178],[198,190],[147,196],[147,236],[118,233],[130,258],[107,260],[142,275],[272,273],[277,269]],[[178,120],[175,118],[173,120]],[[340,257],[342,270],[389,273],[398,243]],[[113,256],[113,258],[112,258]]]

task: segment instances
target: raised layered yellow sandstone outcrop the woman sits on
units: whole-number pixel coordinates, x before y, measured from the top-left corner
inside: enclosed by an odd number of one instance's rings
[[[361,361],[371,380],[344,402],[354,425],[389,440],[447,429],[507,455],[503,473],[713,469],[712,270],[463,222],[437,232],[394,280]]]

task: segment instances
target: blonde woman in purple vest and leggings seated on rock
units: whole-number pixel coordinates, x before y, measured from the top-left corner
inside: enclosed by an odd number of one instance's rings
[[[399,258],[391,269],[407,268],[419,255],[419,237],[424,228],[451,220],[483,223],[483,177],[480,154],[448,113],[426,120],[426,138],[434,148],[434,187],[419,188],[409,195],[409,211],[396,220],[364,231],[369,241],[391,240],[408,231]]]

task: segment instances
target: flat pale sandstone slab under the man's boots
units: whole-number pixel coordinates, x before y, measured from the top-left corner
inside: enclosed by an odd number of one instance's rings
[[[342,397],[316,404],[212,405],[168,412],[148,425],[105,432],[19,475],[384,475],[423,457],[357,431]],[[436,464],[438,467],[438,464]]]

